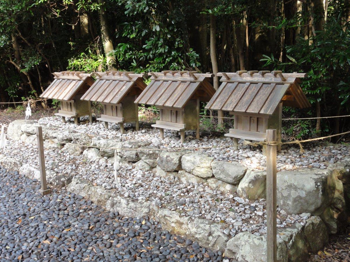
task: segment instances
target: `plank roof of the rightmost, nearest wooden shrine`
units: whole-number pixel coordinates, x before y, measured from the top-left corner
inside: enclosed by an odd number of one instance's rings
[[[217,73],[222,84],[206,109],[272,115],[280,102],[285,106],[307,108],[310,103],[299,86],[303,73],[281,71],[237,71]]]

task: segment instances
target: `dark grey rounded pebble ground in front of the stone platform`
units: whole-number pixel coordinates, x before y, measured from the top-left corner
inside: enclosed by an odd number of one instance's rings
[[[39,188],[0,167],[1,261],[225,261],[148,217],[123,218],[66,191],[42,197]]]

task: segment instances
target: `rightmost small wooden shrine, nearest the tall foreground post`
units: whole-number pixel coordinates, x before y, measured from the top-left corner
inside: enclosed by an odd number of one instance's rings
[[[234,145],[238,145],[238,138],[264,141],[266,129],[276,129],[281,141],[282,106],[311,106],[299,86],[300,78],[307,74],[237,71],[217,76],[222,77],[222,84],[205,108],[234,115],[234,128],[225,134],[235,138]]]

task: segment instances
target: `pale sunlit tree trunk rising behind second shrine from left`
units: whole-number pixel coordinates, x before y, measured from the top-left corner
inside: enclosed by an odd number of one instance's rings
[[[105,0],[99,0],[102,4],[100,7],[100,23],[101,23],[101,35],[103,39],[103,47],[105,50],[105,56],[107,59],[107,66],[109,70],[114,69],[114,64],[116,64],[116,59],[113,56],[109,56],[109,52],[113,51],[112,36],[108,28],[107,12]]]

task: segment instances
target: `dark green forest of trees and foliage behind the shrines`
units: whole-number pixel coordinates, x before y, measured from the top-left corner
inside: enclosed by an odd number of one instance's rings
[[[349,23],[350,0],[0,0],[0,102],[37,99],[65,70],[282,70],[308,73],[312,105],[285,108],[284,118],[349,115]],[[350,121],[283,127],[315,137]]]

